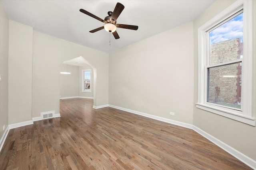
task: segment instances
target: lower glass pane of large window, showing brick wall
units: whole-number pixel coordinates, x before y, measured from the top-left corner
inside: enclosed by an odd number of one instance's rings
[[[208,68],[207,102],[241,108],[242,63]]]

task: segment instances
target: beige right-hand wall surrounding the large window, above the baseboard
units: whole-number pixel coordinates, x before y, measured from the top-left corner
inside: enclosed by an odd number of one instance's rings
[[[235,0],[217,0],[210,8],[204,11],[194,20],[194,103],[198,101],[198,28],[208,20],[222,12]],[[253,1],[254,16],[256,16],[256,1]],[[256,49],[256,17],[254,17],[254,47]],[[256,56],[256,50],[253,52]],[[256,68],[256,60],[253,58],[253,68]],[[256,69],[253,70],[253,113],[256,117]],[[241,123],[202,109],[194,105],[193,124],[220,141],[242,152],[246,156],[256,160],[256,127]]]

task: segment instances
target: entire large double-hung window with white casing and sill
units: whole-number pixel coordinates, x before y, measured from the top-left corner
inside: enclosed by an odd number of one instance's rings
[[[198,29],[196,107],[255,126],[252,2],[237,1]]]

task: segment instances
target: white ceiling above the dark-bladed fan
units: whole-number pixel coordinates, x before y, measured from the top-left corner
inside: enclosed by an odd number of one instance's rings
[[[110,53],[158,33],[193,21],[215,0],[2,0],[10,20],[35,31]],[[117,23],[138,25],[138,30],[117,28],[120,39],[104,29],[89,31],[104,23],[80,12],[82,8],[99,18],[108,16],[116,3],[125,8]],[[109,43],[111,42],[111,45]]]

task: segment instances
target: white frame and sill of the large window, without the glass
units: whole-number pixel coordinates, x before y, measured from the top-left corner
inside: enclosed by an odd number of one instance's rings
[[[244,12],[242,61],[242,107],[240,110],[207,103],[207,34],[206,32],[239,10]],[[227,62],[228,63],[228,62]],[[196,107],[255,126],[252,117],[252,0],[238,0],[198,28],[198,102]]]

